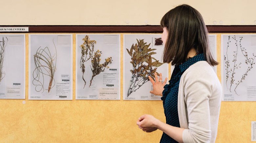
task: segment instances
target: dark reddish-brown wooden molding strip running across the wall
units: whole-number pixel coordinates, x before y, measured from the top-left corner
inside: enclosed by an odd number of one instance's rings
[[[29,27],[21,33],[161,33],[160,25],[0,25]],[[256,33],[256,25],[206,25],[209,33]],[[17,33],[17,32],[4,32]]]

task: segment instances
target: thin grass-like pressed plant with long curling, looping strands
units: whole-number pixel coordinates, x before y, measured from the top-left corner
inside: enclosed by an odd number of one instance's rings
[[[53,39],[54,40],[54,39]],[[48,93],[55,85],[54,72],[56,71],[57,49],[53,41],[55,53],[52,55],[48,47],[37,49],[34,56],[35,69],[33,71],[33,85],[37,92],[44,92],[45,76],[50,77]],[[53,84],[53,85],[52,85]],[[39,88],[38,88],[39,87]],[[47,89],[46,89],[47,90]]]

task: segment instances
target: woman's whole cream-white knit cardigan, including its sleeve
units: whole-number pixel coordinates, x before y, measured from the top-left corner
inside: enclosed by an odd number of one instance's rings
[[[191,65],[181,76],[178,114],[184,143],[214,143],[221,107],[220,81],[206,61]]]

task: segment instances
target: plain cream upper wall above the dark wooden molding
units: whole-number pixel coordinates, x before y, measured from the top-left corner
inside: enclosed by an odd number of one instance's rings
[[[1,0],[0,25],[159,25],[180,4],[196,8],[206,25],[256,24],[256,0]]]

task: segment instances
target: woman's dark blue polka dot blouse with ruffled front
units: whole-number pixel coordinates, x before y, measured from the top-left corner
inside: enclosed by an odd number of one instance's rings
[[[175,65],[173,70],[171,80],[168,85],[164,86],[164,90],[162,92],[163,97],[161,100],[163,101],[164,115],[166,119],[166,124],[180,127],[179,116],[178,116],[178,91],[179,84],[181,80],[181,75],[183,72],[191,65],[198,61],[204,61],[204,55],[198,54],[192,58],[189,58],[186,62],[181,65]],[[167,134],[163,133],[160,143],[177,143],[174,139],[172,139]]]

